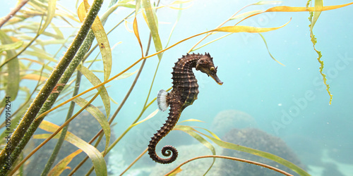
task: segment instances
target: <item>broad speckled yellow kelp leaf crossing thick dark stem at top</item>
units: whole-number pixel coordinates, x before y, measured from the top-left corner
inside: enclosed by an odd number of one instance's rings
[[[85,19],[87,12],[90,8],[87,0],[84,0],[83,3],[78,7],[78,18],[81,22]],[[110,49],[109,41],[107,34],[104,31],[104,27],[100,18],[97,16],[95,21],[92,24],[92,31],[95,34],[97,43],[100,46],[100,53],[102,54],[103,66],[104,66],[104,81],[109,79],[109,75],[112,72],[112,50]]]

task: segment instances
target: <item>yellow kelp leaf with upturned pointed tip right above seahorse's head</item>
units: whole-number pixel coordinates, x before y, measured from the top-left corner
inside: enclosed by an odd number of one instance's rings
[[[287,25],[290,22],[290,20],[285,23]],[[285,25],[282,25],[280,27],[252,27],[252,26],[243,26],[243,25],[236,25],[236,26],[225,26],[225,27],[220,27],[215,30],[210,30],[210,32],[249,32],[249,33],[258,33],[258,32],[268,32],[272,30],[277,30],[280,29],[281,27],[284,27]]]

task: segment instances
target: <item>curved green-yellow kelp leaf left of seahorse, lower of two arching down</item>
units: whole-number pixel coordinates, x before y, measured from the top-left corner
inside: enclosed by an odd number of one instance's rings
[[[81,106],[81,108],[88,103],[87,100],[82,99],[80,97],[73,99],[73,102],[78,104],[78,106]],[[105,153],[108,149],[109,141],[110,141],[110,125],[109,125],[108,119],[105,118],[105,115],[100,111],[100,109],[96,108],[92,104],[87,106],[87,108],[85,108],[85,110],[88,111],[88,113],[92,114],[93,117],[95,117],[95,119],[97,119],[97,121],[100,123],[100,126],[102,127],[102,129],[104,131],[104,134],[105,134],[104,153]]]

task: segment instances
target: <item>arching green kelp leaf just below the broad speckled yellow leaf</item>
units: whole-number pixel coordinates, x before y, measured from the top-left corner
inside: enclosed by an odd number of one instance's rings
[[[85,75],[87,80],[89,80],[90,83],[93,86],[102,83],[100,81],[100,79],[95,74],[93,74],[91,70],[88,70],[88,68],[86,68],[85,66],[80,64],[80,65],[78,65],[77,70],[79,70],[80,73]],[[102,85],[101,87],[97,88],[97,90],[99,90],[99,89],[102,89],[102,91],[100,92],[100,98],[103,101],[105,112],[107,113],[107,118],[109,118],[109,115],[110,115],[110,101],[109,101],[109,95],[108,95],[107,89],[105,89],[104,85]]]

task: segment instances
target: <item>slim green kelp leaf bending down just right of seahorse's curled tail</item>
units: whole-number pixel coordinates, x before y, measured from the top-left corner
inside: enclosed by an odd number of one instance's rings
[[[186,125],[176,125],[174,127],[174,130],[181,130],[183,132],[186,132],[191,137],[193,137],[196,140],[198,140],[198,142],[200,142],[201,144],[206,146],[208,149],[210,149],[210,151],[213,153],[213,155],[216,155],[215,147],[210,142],[206,141],[203,137],[201,137],[199,134],[197,134],[192,127],[189,127],[189,126],[186,126]],[[208,168],[208,170],[205,172],[204,175],[206,175],[207,172],[212,168],[213,164],[215,163],[215,160],[216,160],[216,158],[213,158],[213,162],[210,165],[210,168]]]

